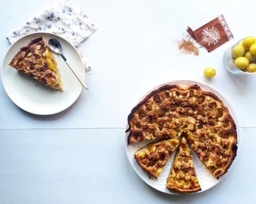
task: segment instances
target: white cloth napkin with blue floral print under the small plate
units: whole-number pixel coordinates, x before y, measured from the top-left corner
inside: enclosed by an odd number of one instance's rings
[[[50,32],[58,34],[77,48],[83,59],[85,69],[90,70],[90,63],[88,63],[80,46],[82,41],[88,38],[96,29],[96,25],[88,18],[86,12],[65,0],[19,26],[9,33],[6,38],[12,44],[28,33]]]

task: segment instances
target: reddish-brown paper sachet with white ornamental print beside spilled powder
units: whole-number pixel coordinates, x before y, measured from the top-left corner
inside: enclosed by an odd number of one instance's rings
[[[222,14],[194,31],[188,27],[187,32],[203,45],[208,52],[233,39],[233,35]]]

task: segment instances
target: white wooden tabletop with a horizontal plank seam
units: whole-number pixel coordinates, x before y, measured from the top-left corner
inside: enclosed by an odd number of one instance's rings
[[[1,2],[0,63],[8,32],[57,2]],[[256,75],[233,77],[222,65],[225,49],[256,35],[254,1],[72,2],[99,27],[83,43],[92,63],[90,89],[66,111],[37,116],[14,105],[0,84],[0,203],[255,203]],[[211,53],[201,49],[199,57],[179,54],[175,42],[188,25],[196,29],[221,13],[232,41]],[[205,67],[216,69],[213,79],[204,78]],[[232,172],[198,195],[164,195],[147,186],[124,150],[131,108],[149,89],[175,79],[214,86],[230,100],[242,126]]]

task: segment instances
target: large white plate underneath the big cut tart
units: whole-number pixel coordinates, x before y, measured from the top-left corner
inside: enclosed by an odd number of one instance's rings
[[[238,136],[238,138],[237,138],[238,139],[237,155],[238,155],[238,152],[240,150],[240,142],[241,142],[240,141],[240,125],[239,125],[237,116],[235,115],[234,109],[230,105],[229,101],[219,91],[215,90],[213,87],[211,87],[211,86],[209,86],[207,84],[200,83],[198,81],[176,80],[176,81],[171,81],[170,83],[166,83],[166,84],[176,84],[176,85],[194,85],[194,84],[197,84],[197,85],[200,86],[200,88],[202,90],[210,91],[210,92],[214,93],[216,96],[218,96],[220,98],[220,100],[223,101],[224,105],[227,106],[230,115],[232,116],[232,118],[234,119],[235,124],[237,125],[237,136]],[[160,86],[163,86],[163,85],[166,85],[166,84],[162,84]],[[159,88],[160,86],[157,86],[156,88],[154,88],[152,90],[155,90],[155,89]],[[149,93],[151,93],[152,90],[150,90]],[[147,94],[149,94],[149,93],[147,93]],[[143,100],[145,98],[145,96],[141,100]],[[128,124],[126,125],[126,127],[128,127]],[[149,178],[149,175],[147,175],[146,172],[144,172],[139,165],[137,165],[137,162],[134,159],[135,151],[139,147],[142,147],[142,146],[145,146],[145,145],[149,144],[151,141],[139,142],[139,144],[129,145],[128,146],[127,145],[127,136],[128,136],[128,134],[129,134],[129,132],[127,132],[125,134],[125,150],[126,150],[126,154],[128,156],[128,159],[130,161],[130,164],[133,167],[134,171],[137,173],[137,175],[143,181],[145,181],[148,185],[150,185],[151,187],[155,188],[156,190],[159,190],[161,192],[168,193],[168,194],[173,194],[173,195],[183,195],[183,194],[178,193],[176,191],[170,191],[170,190],[168,190],[165,187],[165,185],[166,185],[166,178],[169,175],[169,171],[170,171],[173,159],[174,159],[175,152],[173,152],[173,154],[171,155],[169,161],[164,166],[163,171],[161,172],[161,174],[159,175],[157,180],[153,180],[152,178]],[[191,150],[191,148],[190,148],[190,150]],[[191,153],[193,155],[193,161],[194,161],[194,165],[195,165],[196,174],[198,176],[198,180],[199,180],[199,183],[200,183],[200,186],[201,186],[201,191],[198,191],[196,193],[200,193],[200,192],[206,191],[209,188],[215,186],[217,183],[219,183],[223,179],[223,177],[225,175],[228,174],[228,173],[226,173],[223,176],[219,177],[219,179],[216,179],[215,177],[213,177],[210,174],[208,169],[206,169],[206,167],[203,164],[203,162],[200,161],[199,157],[196,156],[196,154],[195,154],[195,152],[193,150],[191,150]],[[235,157],[235,160],[236,159],[237,159],[237,157]],[[228,172],[231,171],[232,166],[234,165],[234,161],[233,161],[232,165],[230,166],[230,168],[228,169]]]

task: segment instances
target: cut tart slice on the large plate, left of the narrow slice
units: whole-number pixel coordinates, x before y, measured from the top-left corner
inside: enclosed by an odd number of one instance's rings
[[[135,152],[135,159],[140,167],[154,178],[157,178],[170,155],[179,145],[178,139],[161,140],[141,147]]]

